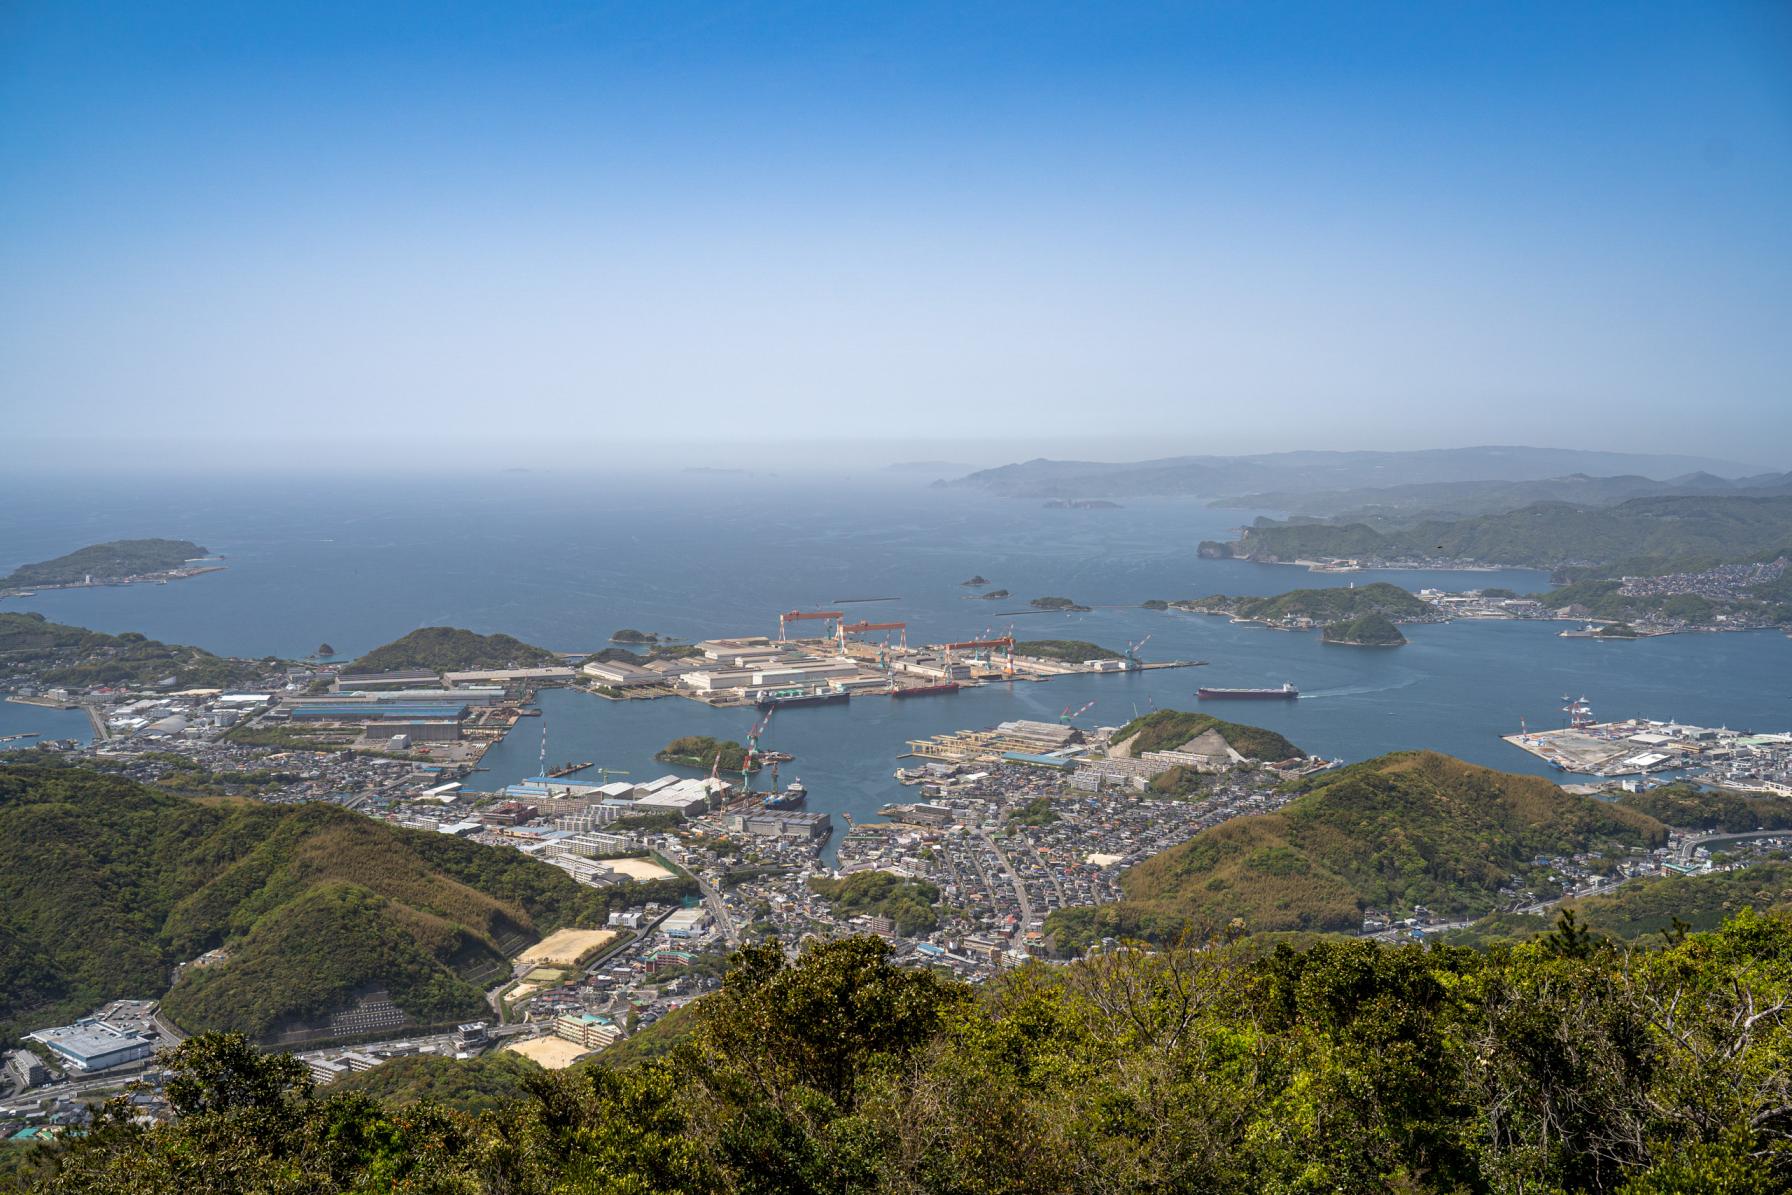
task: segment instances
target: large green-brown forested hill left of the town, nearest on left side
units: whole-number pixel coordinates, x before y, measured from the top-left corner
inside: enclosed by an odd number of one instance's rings
[[[190,1030],[265,1034],[369,987],[423,1021],[477,1014],[470,976],[563,924],[602,924],[642,892],[333,804],[0,767],[0,1036],[165,991]],[[228,962],[170,991],[174,964],[217,946]]]

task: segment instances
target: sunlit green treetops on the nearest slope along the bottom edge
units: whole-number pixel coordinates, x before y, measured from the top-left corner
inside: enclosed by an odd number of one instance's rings
[[[65,1193],[1792,1186],[1783,917],[1627,955],[1572,928],[1500,953],[1206,946],[984,989],[867,937],[754,946],[658,1059],[543,1073],[477,1118],[319,1093],[289,1057],[201,1037],[168,1059],[172,1125],[120,1107],[36,1174]]]

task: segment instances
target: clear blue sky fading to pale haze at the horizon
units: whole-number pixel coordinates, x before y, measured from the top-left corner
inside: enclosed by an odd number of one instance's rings
[[[22,444],[1792,464],[1787,5],[14,0],[0,156]]]

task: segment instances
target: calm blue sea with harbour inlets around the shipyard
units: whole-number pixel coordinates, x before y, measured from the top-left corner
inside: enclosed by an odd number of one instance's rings
[[[1251,518],[1199,502],[1129,502],[1120,511],[1047,511],[950,489],[702,478],[604,482],[599,469],[473,482],[116,484],[79,489],[0,484],[0,570],[104,539],[174,536],[222,552],[228,572],[168,586],[45,593],[36,609],[100,631],[143,631],[229,654],[305,656],[321,641],[358,654],[421,625],[504,631],[556,649],[602,647],[618,627],[676,636],[771,634],[780,609],[848,598],[873,622],[905,618],[910,640],[1005,629],[1124,647],[1210,666],[1086,675],[950,697],[788,709],[767,745],[797,754],[787,776],[812,806],[869,815],[910,790],[891,778],[907,740],[1004,718],[1057,718],[1095,701],[1084,724],[1134,709],[1190,708],[1195,684],[1279,684],[1297,702],[1215,706],[1328,756],[1434,747],[1509,770],[1543,770],[1498,735],[1557,726],[1563,695],[1598,717],[1645,715],[1792,729],[1792,640],[1779,632],[1672,636],[1636,643],[1557,638],[1559,623],[1448,623],[1409,629],[1396,650],[1326,647],[1315,634],[1235,627],[1222,618],[1138,609],[1145,598],[1279,593],[1392,580],[1407,588],[1546,588],[1532,572],[1322,575],[1201,561],[1201,539]],[[1012,602],[964,600],[982,573]],[[1097,609],[1011,615],[1063,595]],[[742,736],[745,713],[686,701],[606,702],[543,695],[487,756],[491,785],[550,763],[595,760],[659,774],[652,752],[685,733]],[[54,729],[52,729],[54,722]],[[0,704],[0,735],[81,735],[81,715]]]

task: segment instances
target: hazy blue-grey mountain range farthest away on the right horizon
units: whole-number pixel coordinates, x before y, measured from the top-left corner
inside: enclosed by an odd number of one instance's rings
[[[1572,448],[1432,448],[1419,451],[1278,451],[1247,457],[1165,457],[1109,464],[1098,460],[1027,460],[980,469],[944,486],[966,486],[1011,498],[1145,498],[1236,494],[1317,494],[1362,487],[1548,478],[1636,477],[1668,480],[1711,475],[1717,480],[1760,475],[1760,468],[1706,457],[1581,451]],[[1676,491],[1679,493],[1679,491]],[[1634,496],[1634,494],[1633,494]],[[1536,502],[1538,498],[1529,498]]]

